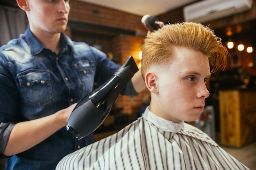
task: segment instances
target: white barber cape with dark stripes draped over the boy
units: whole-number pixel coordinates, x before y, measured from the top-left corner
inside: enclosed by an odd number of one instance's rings
[[[56,170],[249,170],[207,134],[147,108],[114,135],[65,156]]]

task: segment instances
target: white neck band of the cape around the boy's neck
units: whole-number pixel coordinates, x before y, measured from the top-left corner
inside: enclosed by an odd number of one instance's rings
[[[141,117],[143,117],[147,121],[150,121],[155,126],[157,126],[157,128],[164,130],[166,132],[177,133],[184,126],[184,121],[181,121],[179,123],[174,123],[173,121],[163,119],[162,117],[158,117],[158,116],[154,115],[152,112],[150,112],[148,107],[146,108],[145,112],[143,113],[143,115]]]

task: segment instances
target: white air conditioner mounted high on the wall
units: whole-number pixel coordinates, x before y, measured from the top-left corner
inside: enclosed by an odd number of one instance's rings
[[[184,20],[207,22],[252,8],[253,0],[202,0],[183,8]]]

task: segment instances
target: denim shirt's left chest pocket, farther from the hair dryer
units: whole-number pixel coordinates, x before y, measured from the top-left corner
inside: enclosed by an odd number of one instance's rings
[[[26,103],[43,106],[52,102],[54,97],[49,71],[32,68],[19,73],[17,76]]]

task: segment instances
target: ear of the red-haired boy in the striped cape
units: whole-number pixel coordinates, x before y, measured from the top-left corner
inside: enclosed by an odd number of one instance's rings
[[[145,75],[145,83],[148,88],[148,90],[152,93],[158,93],[157,88],[157,75],[152,72],[148,72]]]

